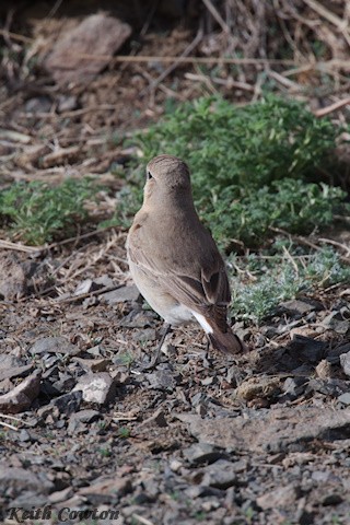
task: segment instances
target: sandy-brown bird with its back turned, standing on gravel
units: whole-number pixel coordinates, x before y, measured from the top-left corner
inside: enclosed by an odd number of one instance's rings
[[[135,284],[167,329],[197,320],[215,350],[247,350],[228,323],[225,264],[197,214],[187,164],[162,154],[145,173],[143,203],[126,243]]]

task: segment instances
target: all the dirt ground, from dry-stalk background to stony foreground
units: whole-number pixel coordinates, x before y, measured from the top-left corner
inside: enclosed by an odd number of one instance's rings
[[[116,166],[138,154],[122,139],[203,94],[244,104],[275,85],[346,121],[350,13],[328,3],[322,18],[314,1],[3,2],[0,188],[97,176],[109,188],[97,223],[122,185]],[[82,84],[54,80],[54,43],[97,11],[130,24],[113,54],[131,58]],[[182,54],[218,60],[167,60]],[[189,327],[149,368],[162,324],[128,276],[126,234],[33,247],[1,232],[1,523],[349,524],[349,284],[236,323],[246,354],[207,353]]]

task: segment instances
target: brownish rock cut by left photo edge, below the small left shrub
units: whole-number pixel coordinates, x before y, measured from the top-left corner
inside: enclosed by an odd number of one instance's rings
[[[7,301],[19,299],[26,292],[26,275],[16,254],[0,255],[0,296]]]

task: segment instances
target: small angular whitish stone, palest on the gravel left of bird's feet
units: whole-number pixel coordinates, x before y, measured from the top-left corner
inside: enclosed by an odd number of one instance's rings
[[[98,372],[83,375],[73,388],[78,390],[82,390],[84,401],[105,405],[114,399],[116,385],[107,372]]]

